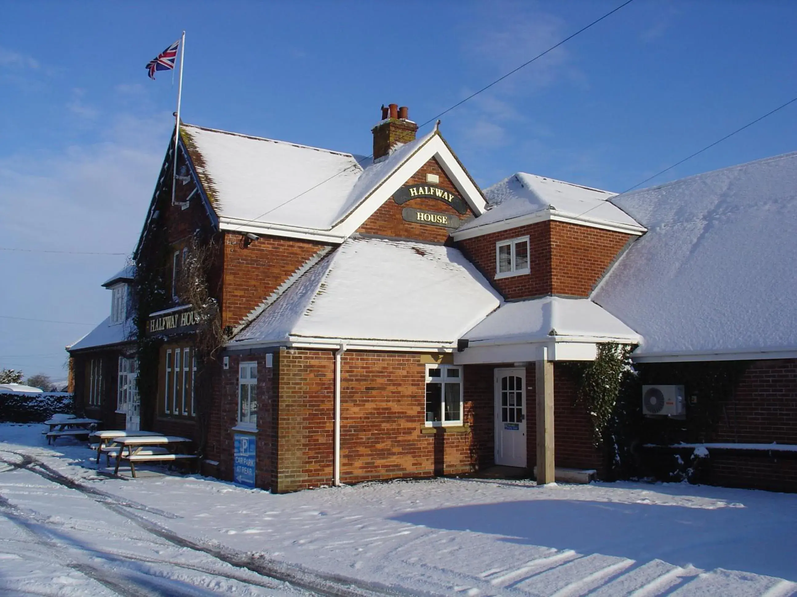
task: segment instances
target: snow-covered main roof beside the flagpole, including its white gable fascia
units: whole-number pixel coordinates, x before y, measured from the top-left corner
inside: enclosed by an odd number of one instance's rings
[[[376,160],[273,139],[183,125],[186,146],[222,228],[341,242],[431,157],[461,185],[475,213],[481,191],[437,129]],[[403,170],[410,169],[409,173]],[[398,180],[391,175],[402,178]],[[402,176],[399,176],[401,174]],[[393,184],[387,185],[391,180]],[[379,192],[378,192],[379,191]],[[374,200],[374,201],[371,201]],[[372,205],[371,205],[372,204]],[[370,209],[370,211],[369,211]],[[311,235],[311,236],[308,236]],[[312,235],[321,235],[316,238]]]

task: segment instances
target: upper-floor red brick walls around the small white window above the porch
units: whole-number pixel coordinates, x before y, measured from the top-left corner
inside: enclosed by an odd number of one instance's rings
[[[531,273],[495,279],[496,243],[527,235]],[[622,232],[548,220],[461,240],[457,246],[505,298],[586,297],[629,239]]]

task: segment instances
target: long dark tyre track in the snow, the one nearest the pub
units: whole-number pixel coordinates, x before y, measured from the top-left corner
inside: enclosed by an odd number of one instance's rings
[[[10,466],[14,466],[15,468],[29,470],[30,472],[38,474],[42,478],[57,483],[58,485],[65,486],[71,490],[76,490],[80,492],[80,494],[88,494],[88,496],[91,497],[93,501],[96,501],[96,503],[112,510],[112,512],[117,513],[120,516],[127,518],[135,525],[139,526],[139,528],[147,531],[147,533],[165,539],[171,544],[177,545],[178,547],[187,548],[195,552],[205,553],[206,555],[212,556],[217,560],[225,562],[226,564],[230,564],[237,568],[246,568],[260,576],[265,576],[269,579],[287,583],[293,587],[303,589],[304,591],[310,591],[312,593],[316,593],[317,595],[330,595],[331,597],[370,597],[371,595],[395,595],[398,597],[405,595],[428,595],[427,593],[420,594],[404,588],[384,587],[377,583],[367,583],[357,579],[351,579],[346,576],[328,575],[316,571],[310,571],[298,566],[291,566],[289,564],[282,563],[278,560],[269,560],[268,558],[265,558],[265,556],[254,556],[252,554],[238,552],[238,550],[234,550],[233,548],[217,548],[209,544],[203,544],[189,540],[186,537],[181,537],[178,534],[171,532],[171,530],[163,527],[162,525],[158,525],[153,521],[149,521],[145,517],[129,512],[125,509],[125,507],[143,510],[148,513],[156,513],[159,515],[164,513],[163,510],[153,509],[147,505],[137,504],[136,502],[120,500],[118,497],[112,494],[106,494],[103,491],[84,486],[82,483],[76,482],[73,479],[66,477],[64,474],[61,474],[57,470],[47,466],[44,462],[41,462],[35,458],[31,458],[29,455],[6,450],[4,450],[4,452],[19,456],[22,458],[23,462],[9,462],[3,460],[2,458],[0,458],[0,462],[4,462]],[[95,497],[102,497],[103,499],[95,499]],[[167,517],[176,518],[177,516],[172,514],[171,516]],[[223,573],[214,574],[216,576],[224,576]]]

